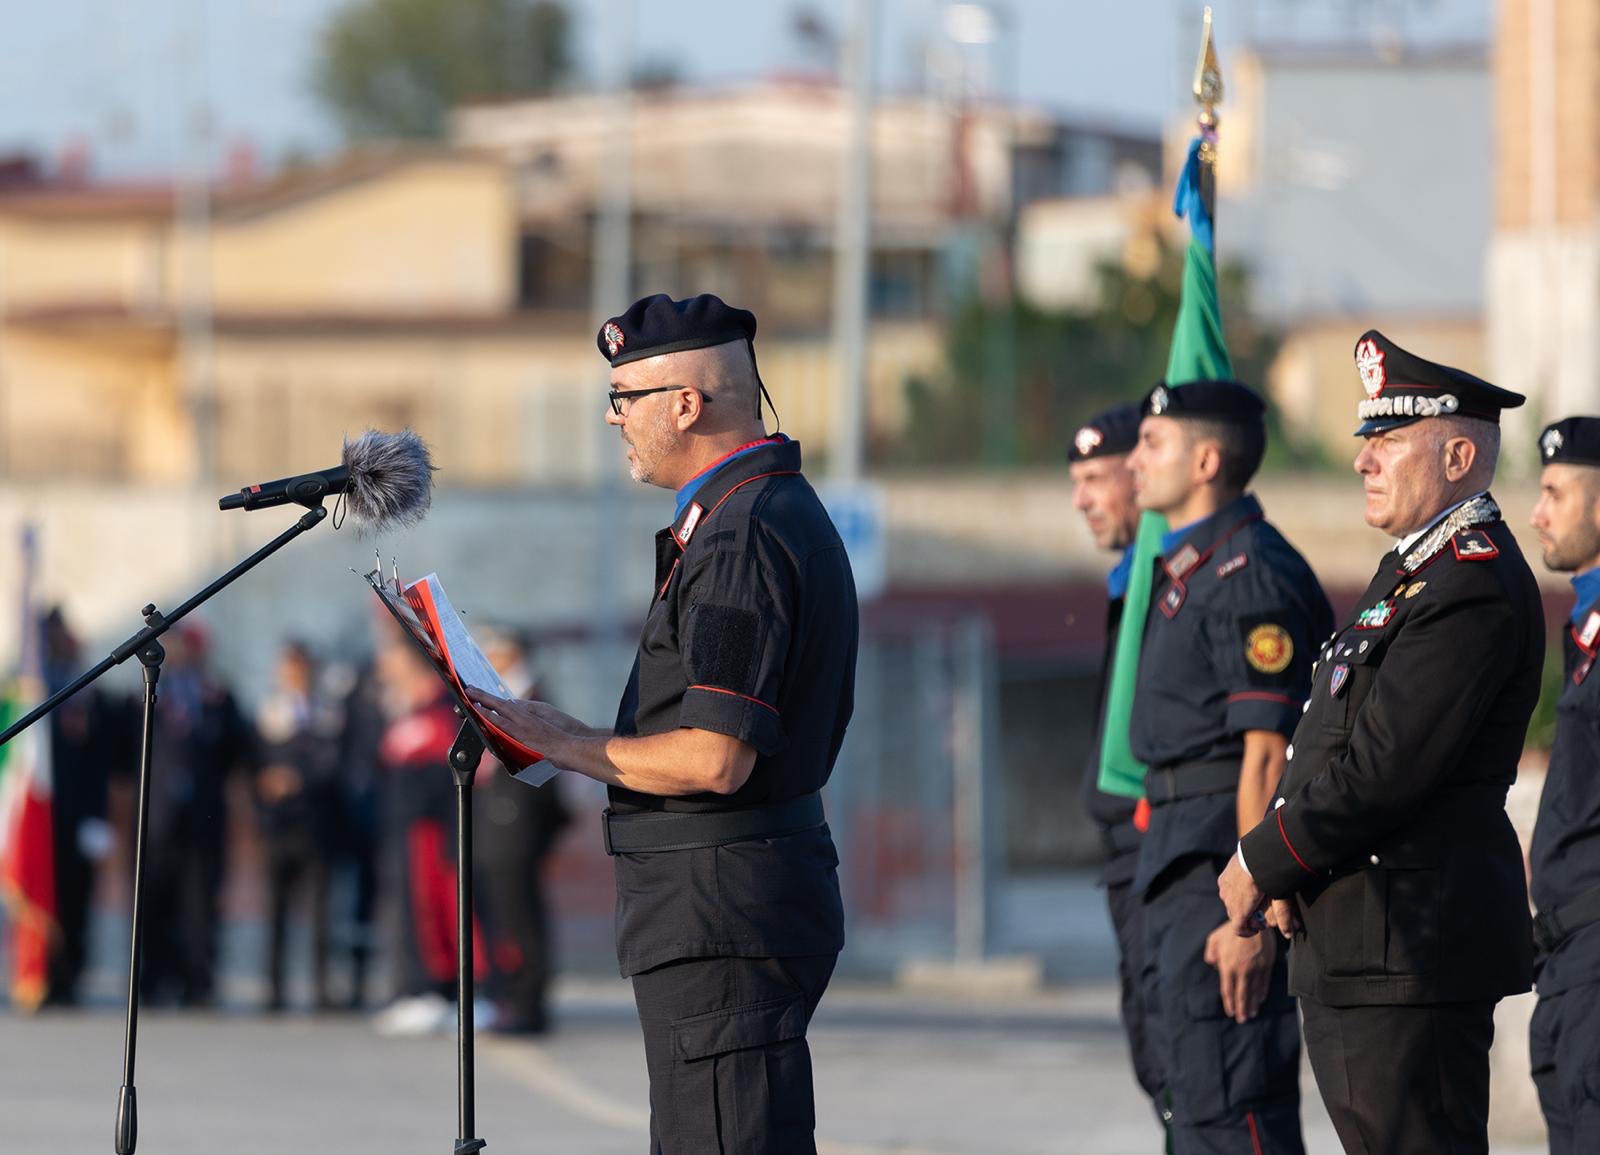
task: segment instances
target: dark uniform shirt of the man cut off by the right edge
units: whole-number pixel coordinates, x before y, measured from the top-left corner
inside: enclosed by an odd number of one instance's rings
[[[1600,601],[1563,632],[1566,678],[1555,705],[1555,747],[1533,829],[1533,905],[1550,910],[1600,886]],[[1600,982],[1600,923],[1573,931],[1539,958],[1541,995]]]

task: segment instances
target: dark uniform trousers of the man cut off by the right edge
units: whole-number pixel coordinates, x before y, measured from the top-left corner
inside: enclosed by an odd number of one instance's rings
[[[1550,1155],[1600,1152],[1600,982],[1541,995],[1528,1043]]]

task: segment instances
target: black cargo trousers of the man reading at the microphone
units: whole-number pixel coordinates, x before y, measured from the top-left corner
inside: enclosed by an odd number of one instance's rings
[[[805,1032],[838,955],[680,958],[634,976],[650,1155],[814,1155]]]

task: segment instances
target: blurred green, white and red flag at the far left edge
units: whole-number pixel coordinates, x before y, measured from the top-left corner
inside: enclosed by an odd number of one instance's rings
[[[34,600],[37,541],[22,530],[21,659],[0,697],[0,729],[45,697],[43,630]],[[37,1009],[50,989],[56,929],[51,832],[50,721],[40,720],[0,745],[0,899],[6,907],[11,1003]]]

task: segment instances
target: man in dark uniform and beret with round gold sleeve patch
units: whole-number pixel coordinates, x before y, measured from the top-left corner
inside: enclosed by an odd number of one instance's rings
[[[1171,526],[1130,747],[1150,768],[1133,886],[1176,1155],[1304,1150],[1286,960],[1270,937],[1234,934],[1216,896],[1238,835],[1266,813],[1310,654],[1333,625],[1317,576],[1245,493],[1267,445],[1264,408],[1235,381],[1157,386],[1128,458],[1139,504]]]

